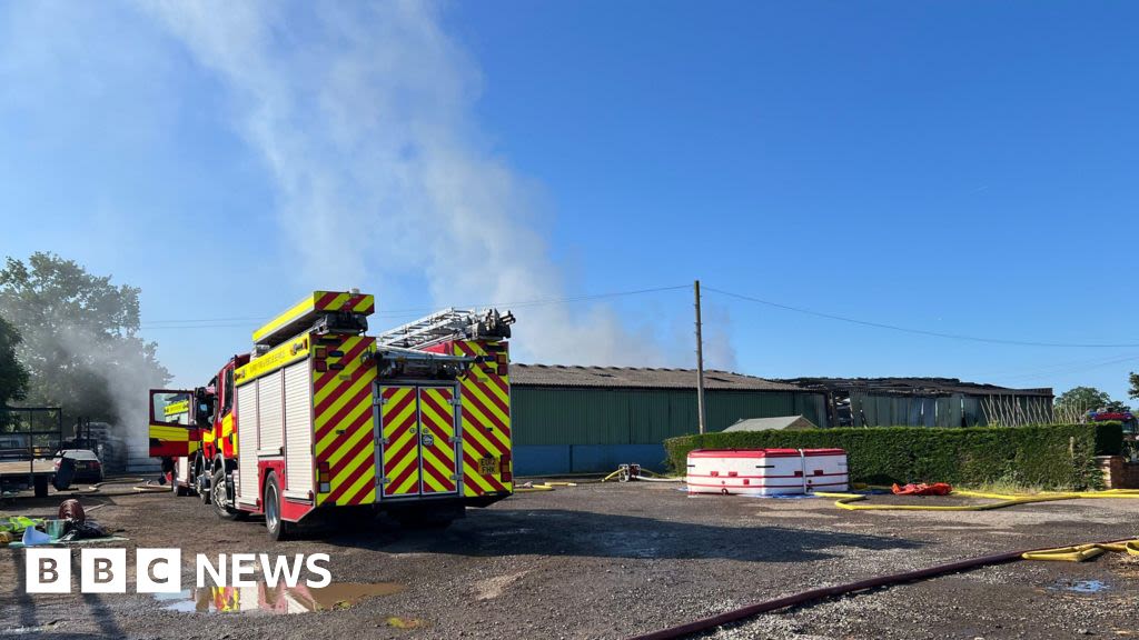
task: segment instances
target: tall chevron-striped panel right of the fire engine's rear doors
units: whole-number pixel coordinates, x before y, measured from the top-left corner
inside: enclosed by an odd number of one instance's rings
[[[499,345],[505,353],[506,345]],[[464,495],[511,491],[513,483],[501,482],[497,465],[493,474],[483,474],[480,466],[483,459],[497,462],[510,454],[510,380],[498,374],[495,353],[477,342],[454,342],[456,355],[491,360],[472,366],[460,379]]]

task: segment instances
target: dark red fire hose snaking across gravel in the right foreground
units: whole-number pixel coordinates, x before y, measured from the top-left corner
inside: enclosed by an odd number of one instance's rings
[[[1101,542],[1100,544],[1112,544],[1117,542],[1118,542],[1117,540],[1113,540],[1112,542]],[[1024,553],[1031,553],[1042,550],[1044,549],[1023,549],[1021,551],[1007,551],[1005,553],[981,556],[978,558],[958,560],[956,563],[937,565],[924,569],[895,573],[890,575],[880,575],[877,577],[860,580],[858,582],[851,582],[847,584],[838,584],[835,586],[823,586],[821,589],[812,589],[811,591],[803,591],[801,593],[786,596],[784,598],[777,598],[775,600],[756,602],[754,605],[748,605],[746,607],[740,607],[738,609],[732,609],[730,612],[716,614],[711,617],[688,622],[677,626],[670,626],[669,629],[662,629],[659,631],[654,631],[652,633],[646,633],[644,635],[637,635],[631,638],[630,640],[670,640],[672,638],[683,638],[685,635],[699,633],[702,631],[715,629],[724,624],[738,622],[744,618],[752,617],[754,615],[764,614],[777,609],[795,607],[798,605],[804,605],[806,602],[812,602],[814,600],[821,600],[823,598],[833,598],[835,596],[843,596],[846,593],[853,593],[854,591],[863,591],[866,589],[876,589],[878,586],[887,586],[891,584],[899,584],[902,582],[913,582],[916,580],[935,577],[948,573],[956,573],[988,565],[1002,565],[1005,563],[1011,563],[1013,560],[1019,560]]]

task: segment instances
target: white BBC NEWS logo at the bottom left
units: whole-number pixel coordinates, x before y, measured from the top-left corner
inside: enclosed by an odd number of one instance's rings
[[[25,549],[25,589],[28,593],[71,593],[71,549]],[[269,586],[284,583],[288,588],[301,582],[302,569],[319,576],[305,580],[309,588],[319,589],[333,582],[328,571],[328,553],[270,557],[269,553],[219,553],[213,560],[205,553],[195,557],[196,585]],[[79,557],[80,593],[125,593],[126,549],[81,549]],[[257,574],[260,573],[260,580]],[[182,591],[181,549],[137,549],[134,553],[134,591],[138,593],[178,593]],[[207,580],[208,579],[208,580]]]

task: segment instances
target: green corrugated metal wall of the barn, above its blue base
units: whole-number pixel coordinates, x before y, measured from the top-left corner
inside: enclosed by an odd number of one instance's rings
[[[516,445],[659,444],[696,433],[696,391],[523,387],[510,389]],[[803,415],[826,426],[821,394],[707,391],[708,430],[743,418]]]

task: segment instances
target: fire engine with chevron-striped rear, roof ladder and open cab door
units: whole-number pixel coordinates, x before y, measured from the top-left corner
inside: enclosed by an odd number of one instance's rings
[[[316,512],[445,526],[514,490],[514,315],[448,309],[368,336],[371,295],[314,292],[203,387],[151,389],[150,456],[174,495],[273,540]]]

